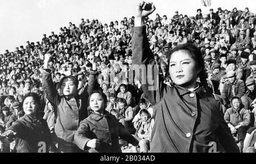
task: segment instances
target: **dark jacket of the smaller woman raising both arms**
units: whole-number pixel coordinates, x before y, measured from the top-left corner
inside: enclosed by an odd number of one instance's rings
[[[88,116],[88,97],[89,94],[97,89],[97,72],[90,72],[88,88],[84,92],[75,96],[75,100],[60,96],[57,93],[55,85],[52,82],[52,76],[49,72],[43,70],[43,90],[46,98],[52,105],[56,106],[57,119],[55,124],[55,133],[57,141],[65,145],[73,144],[73,136],[79,128],[79,123]]]

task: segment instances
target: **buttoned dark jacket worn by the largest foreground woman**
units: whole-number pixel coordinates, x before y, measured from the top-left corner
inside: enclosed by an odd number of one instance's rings
[[[133,64],[154,66],[154,54],[149,48],[145,29],[134,28]],[[152,74],[147,78],[152,79]],[[177,85],[169,87],[162,79],[155,90],[148,84],[141,87],[154,106],[151,152],[209,152],[212,141],[220,145],[217,151],[222,145],[226,152],[239,152],[224,120],[220,102],[207,97],[201,87],[190,92]]]

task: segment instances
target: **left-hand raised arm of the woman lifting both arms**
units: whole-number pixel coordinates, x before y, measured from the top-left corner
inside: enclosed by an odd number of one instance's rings
[[[51,54],[44,55],[44,67],[42,69],[42,83],[43,91],[46,94],[46,98],[54,105],[58,105],[60,102],[60,96],[57,93],[56,87],[52,81],[51,70],[49,70],[48,62],[51,59]]]

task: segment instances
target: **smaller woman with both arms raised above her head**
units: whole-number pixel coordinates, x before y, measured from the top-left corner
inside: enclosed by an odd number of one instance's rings
[[[60,80],[60,89],[62,96],[57,93],[53,84],[52,76],[48,63],[51,54],[44,55],[44,67],[42,70],[43,91],[46,98],[52,105],[56,106],[57,118],[55,123],[56,142],[58,143],[59,152],[82,152],[74,141],[74,134],[81,120],[88,116],[88,96],[93,90],[98,89],[96,79],[96,63],[93,63],[93,71],[89,72],[88,86],[79,94],[77,88],[79,81],[73,76],[64,76]]]

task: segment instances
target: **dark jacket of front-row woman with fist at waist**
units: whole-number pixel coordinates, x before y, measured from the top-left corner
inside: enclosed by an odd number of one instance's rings
[[[80,149],[88,150],[90,153],[121,153],[119,136],[130,144],[138,145],[138,141],[122,123],[118,122],[115,116],[107,111],[102,115],[92,113],[81,121],[79,129],[75,133],[75,143]],[[100,140],[98,148],[92,149],[86,146],[92,139]]]

